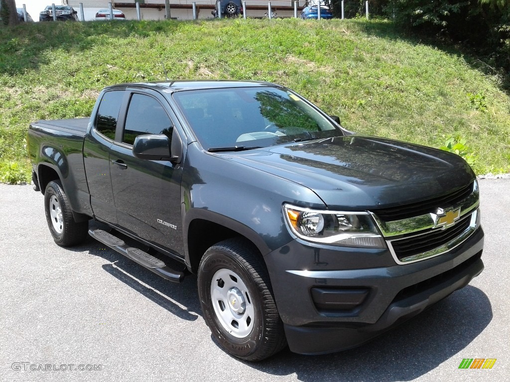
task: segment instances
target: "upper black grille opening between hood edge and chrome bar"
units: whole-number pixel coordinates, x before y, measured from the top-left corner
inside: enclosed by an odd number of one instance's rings
[[[426,213],[434,213],[438,207],[446,208],[462,202],[473,192],[473,183],[466,187],[460,188],[455,192],[438,198],[425,200],[403,206],[383,208],[373,210],[377,217],[384,222],[393,222],[396,220],[409,219],[410,217],[423,215]]]

